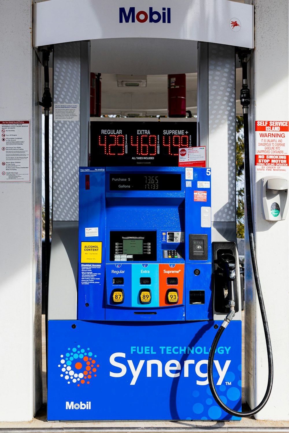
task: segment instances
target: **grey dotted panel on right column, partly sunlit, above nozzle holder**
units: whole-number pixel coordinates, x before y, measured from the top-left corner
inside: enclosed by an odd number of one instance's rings
[[[212,215],[236,220],[235,51],[208,44],[208,142],[212,168]]]

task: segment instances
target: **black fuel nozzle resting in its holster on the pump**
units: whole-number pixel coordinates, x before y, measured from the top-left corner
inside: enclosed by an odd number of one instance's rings
[[[227,283],[227,299],[230,312],[225,318],[225,323],[229,323],[235,315],[235,290],[234,281],[236,279],[236,261],[232,254],[222,254],[218,260],[215,260],[218,264],[219,275],[226,279]],[[223,322],[224,323],[224,322]],[[227,326],[227,325],[226,325]]]

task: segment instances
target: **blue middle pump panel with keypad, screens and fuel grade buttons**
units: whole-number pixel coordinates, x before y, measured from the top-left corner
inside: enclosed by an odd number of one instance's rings
[[[179,174],[180,191],[110,191],[110,175],[117,173],[122,178],[133,173]],[[121,174],[123,173],[123,174]],[[89,185],[87,176],[89,175]],[[79,187],[79,278],[78,319],[80,320],[208,320],[212,318],[211,299],[211,170],[209,168],[133,167],[80,168]],[[204,227],[201,215],[207,209],[208,226]],[[89,229],[96,230],[92,236]],[[143,262],[111,262],[110,233],[114,231],[153,231],[156,233],[156,255],[148,264]],[[185,242],[167,243],[167,231],[184,231]],[[165,233],[165,235],[163,235]],[[190,260],[189,235],[208,237],[208,257],[205,260]],[[165,237],[164,237],[165,236]],[[98,263],[81,263],[81,243],[101,241],[101,260]],[[112,241],[114,242],[114,241]],[[117,241],[118,242],[118,241]],[[115,244],[118,245],[118,244]],[[116,247],[115,247],[116,248]],[[163,249],[179,249],[182,258],[164,259]],[[118,250],[117,250],[118,251]],[[106,265],[104,265],[104,257]],[[114,255],[113,255],[114,257]],[[149,255],[147,256],[149,259]],[[166,290],[159,280],[157,267],[185,263],[184,296],[179,305],[166,305],[161,292]],[[153,269],[155,274],[150,286],[152,301],[142,305],[139,278],[143,266]],[[118,267],[118,268],[116,268]],[[121,268],[122,267],[122,268]],[[201,268],[196,277],[195,268]],[[104,271],[106,278],[104,279]],[[183,272],[183,271],[182,271]],[[112,302],[112,291],[116,286],[112,278],[125,274],[120,289],[124,293],[122,304]],[[159,274],[159,275],[162,275]],[[143,275],[149,276],[149,275]],[[172,275],[173,276],[173,275]],[[205,293],[203,304],[189,303],[190,291]],[[164,297],[164,296],[163,296]],[[151,314],[142,313],[145,311]]]

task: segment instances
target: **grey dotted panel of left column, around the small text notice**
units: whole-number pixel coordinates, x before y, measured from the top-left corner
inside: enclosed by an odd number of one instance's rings
[[[54,46],[53,103],[80,104],[81,42]],[[78,221],[80,120],[53,121],[54,221]]]

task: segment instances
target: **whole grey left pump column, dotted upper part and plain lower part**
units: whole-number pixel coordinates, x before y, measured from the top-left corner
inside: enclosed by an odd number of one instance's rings
[[[77,318],[78,169],[88,165],[90,43],[56,44],[53,102],[79,104],[78,120],[53,122],[49,320]]]

